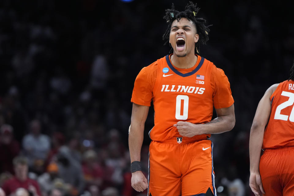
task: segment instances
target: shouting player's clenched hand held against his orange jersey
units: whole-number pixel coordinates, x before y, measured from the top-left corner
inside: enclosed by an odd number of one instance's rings
[[[196,124],[179,121],[177,124],[174,124],[174,126],[177,127],[178,132],[181,136],[190,138],[194,135],[201,135],[199,130],[197,130]]]

